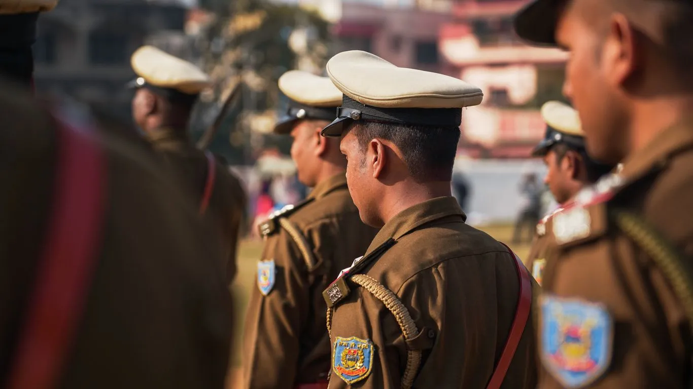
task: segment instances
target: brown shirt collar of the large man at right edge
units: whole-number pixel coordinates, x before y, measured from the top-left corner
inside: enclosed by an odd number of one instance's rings
[[[661,132],[642,150],[631,154],[623,161],[620,176],[626,182],[635,181],[653,168],[663,166],[669,157],[679,150],[693,145],[693,121],[674,125]]]

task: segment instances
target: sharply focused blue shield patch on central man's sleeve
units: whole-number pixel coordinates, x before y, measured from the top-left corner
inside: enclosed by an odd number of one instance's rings
[[[373,342],[356,336],[337,336],[332,347],[332,370],[346,383],[366,379],[373,368]]]

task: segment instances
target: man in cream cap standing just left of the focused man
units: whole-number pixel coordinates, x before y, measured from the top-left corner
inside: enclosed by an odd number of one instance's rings
[[[260,224],[258,262],[243,336],[243,388],[327,388],[330,340],[322,291],[362,255],[377,230],[353,205],[339,139],[320,136],[342,92],[326,77],[289,71],[279,89],[290,98],[275,134],[293,138],[291,157],[307,199]]]

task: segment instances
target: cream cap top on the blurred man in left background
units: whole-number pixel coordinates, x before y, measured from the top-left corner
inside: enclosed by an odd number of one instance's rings
[[[174,57],[154,46],[142,46],[130,58],[132,70],[148,84],[182,93],[197,94],[211,80],[198,66]]]

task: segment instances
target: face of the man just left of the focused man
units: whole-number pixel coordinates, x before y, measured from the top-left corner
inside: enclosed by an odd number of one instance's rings
[[[291,130],[291,159],[296,163],[299,181],[309,187],[317,184],[319,128],[315,120],[298,120]]]

